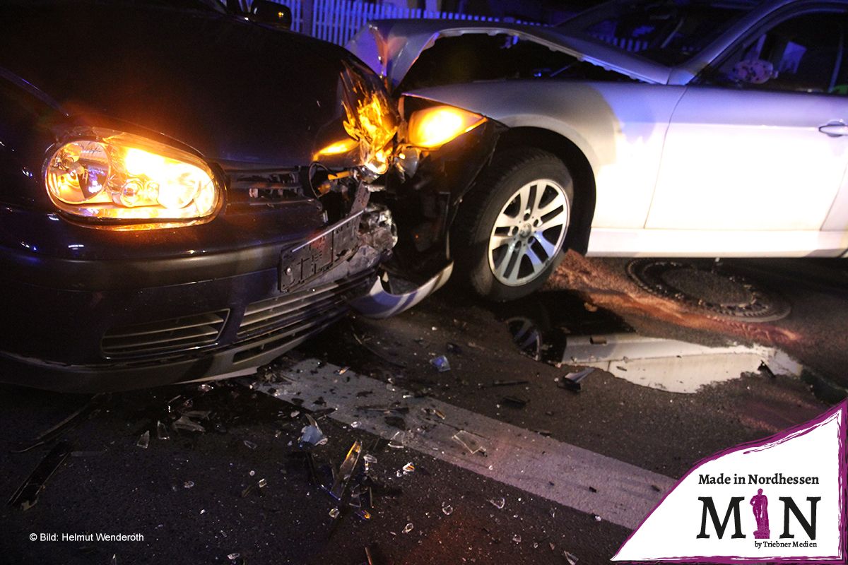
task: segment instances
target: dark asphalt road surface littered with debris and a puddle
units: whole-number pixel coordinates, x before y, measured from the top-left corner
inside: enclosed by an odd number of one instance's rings
[[[840,262],[730,262],[792,307],[759,324],[652,296],[626,263],[570,257],[548,290],[498,307],[449,285],[243,379],[5,386],[0,491],[61,463],[34,506],[0,510],[0,562],[609,562],[701,458],[822,413],[848,361]],[[579,390],[566,378],[580,343],[642,338],[672,353],[594,356],[606,369]]]

